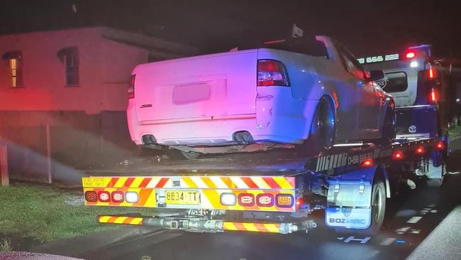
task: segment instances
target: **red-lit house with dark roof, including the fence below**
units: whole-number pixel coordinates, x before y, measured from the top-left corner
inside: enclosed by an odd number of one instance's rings
[[[71,164],[129,149],[126,90],[135,65],[196,51],[103,26],[0,36],[0,139],[38,153],[48,142]]]

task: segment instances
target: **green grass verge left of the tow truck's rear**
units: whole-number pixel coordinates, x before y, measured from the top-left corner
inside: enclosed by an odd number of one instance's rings
[[[96,215],[153,213],[152,209],[85,207],[65,203],[65,200],[79,195],[82,196],[82,192],[78,190],[65,190],[51,185],[13,183],[9,187],[0,187],[0,232],[49,242],[117,228],[96,224]]]

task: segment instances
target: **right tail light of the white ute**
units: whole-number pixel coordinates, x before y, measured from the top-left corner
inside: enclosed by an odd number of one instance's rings
[[[257,61],[257,86],[289,86],[285,66],[278,60]]]

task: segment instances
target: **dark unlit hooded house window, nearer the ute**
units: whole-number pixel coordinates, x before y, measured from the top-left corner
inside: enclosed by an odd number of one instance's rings
[[[79,85],[79,49],[77,47],[62,48],[57,56],[65,65],[66,86]]]

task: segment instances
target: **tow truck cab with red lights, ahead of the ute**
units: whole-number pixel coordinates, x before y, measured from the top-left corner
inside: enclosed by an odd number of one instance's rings
[[[431,56],[431,45],[418,45],[399,53],[357,59],[367,70],[383,70],[377,85],[394,97],[396,136],[435,138],[447,135],[443,65]]]

